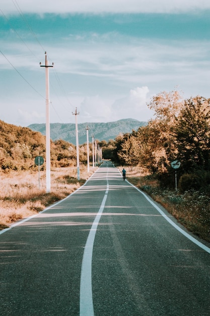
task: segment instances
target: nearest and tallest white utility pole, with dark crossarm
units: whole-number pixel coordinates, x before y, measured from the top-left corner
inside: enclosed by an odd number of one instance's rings
[[[47,53],[45,51],[45,81],[46,81],[46,193],[50,193],[50,125],[49,125],[49,67]]]

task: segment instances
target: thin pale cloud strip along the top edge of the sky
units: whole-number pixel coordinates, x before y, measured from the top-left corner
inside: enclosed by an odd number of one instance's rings
[[[27,13],[170,13],[188,12],[210,9],[209,0],[18,0],[18,2],[2,0],[2,10],[5,13],[17,14],[17,9]]]

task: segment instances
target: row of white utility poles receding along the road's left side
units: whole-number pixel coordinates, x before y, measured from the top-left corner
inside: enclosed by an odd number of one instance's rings
[[[40,67],[45,67],[45,82],[46,82],[46,193],[50,193],[50,122],[49,122],[49,67],[53,67],[53,63],[51,66],[48,65],[47,53],[45,51],[45,65],[41,65]],[[76,119],[76,147],[77,147],[77,178],[80,180],[80,159],[79,159],[79,139],[78,139],[78,123],[77,116],[80,113],[77,112],[77,108],[75,113]],[[89,127],[87,126],[87,163],[88,163],[88,172],[90,172],[90,162],[89,162]],[[102,149],[94,142],[94,135],[92,135],[92,151],[93,151],[93,168],[95,168],[95,163],[100,163],[102,160]]]

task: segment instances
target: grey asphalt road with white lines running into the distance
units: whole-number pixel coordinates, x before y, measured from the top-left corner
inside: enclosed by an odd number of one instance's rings
[[[210,248],[104,163],[0,234],[0,315],[210,314]]]

